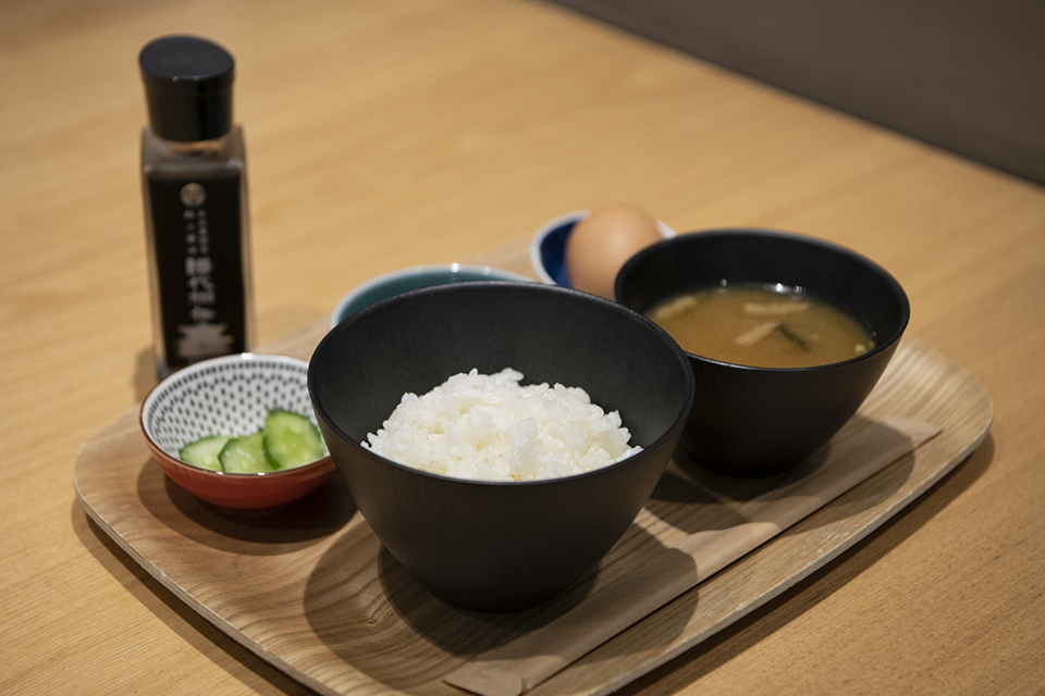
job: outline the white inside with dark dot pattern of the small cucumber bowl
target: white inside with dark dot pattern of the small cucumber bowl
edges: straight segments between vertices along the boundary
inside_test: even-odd
[[[283,356],[226,356],[197,363],[164,380],[146,399],[148,437],[177,459],[186,444],[207,435],[248,435],[270,409],[316,415],[308,398],[308,363]]]

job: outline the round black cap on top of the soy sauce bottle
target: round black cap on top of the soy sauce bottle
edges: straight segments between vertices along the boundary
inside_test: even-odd
[[[235,61],[193,36],[164,36],[138,55],[152,133],[169,140],[212,140],[232,129]]]

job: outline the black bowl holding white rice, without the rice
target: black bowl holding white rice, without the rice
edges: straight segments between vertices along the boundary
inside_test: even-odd
[[[364,448],[405,393],[513,368],[522,384],[581,387],[619,411],[641,452],[588,473],[481,482]],[[437,596],[480,611],[540,605],[595,568],[646,505],[693,399],[686,355],[641,314],[537,283],[479,282],[397,295],[353,314],[308,369],[337,471],[385,548]]]

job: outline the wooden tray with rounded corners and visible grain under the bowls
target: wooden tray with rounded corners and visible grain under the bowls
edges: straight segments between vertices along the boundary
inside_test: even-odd
[[[324,331],[309,326],[265,350],[308,358]],[[905,339],[861,414],[924,420],[942,427],[941,435],[528,693],[612,692],[729,625],[929,489],[980,445],[992,413],[991,397],[973,375]],[[673,463],[669,475],[686,473]],[[491,616],[439,601],[381,547],[337,477],[276,511],[202,504],[151,459],[137,410],[84,444],[74,484],[90,518],[152,576],[321,693],[460,696],[442,681],[445,674],[562,611],[560,602]],[[678,500],[657,495],[643,514],[655,515],[659,507],[678,520]]]

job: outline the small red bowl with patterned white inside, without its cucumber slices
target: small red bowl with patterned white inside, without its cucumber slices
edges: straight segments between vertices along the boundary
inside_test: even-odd
[[[238,353],[205,360],[163,380],[142,405],[139,425],[157,462],[197,498],[257,510],[312,493],[334,472],[330,457],[257,474],[209,471],[181,461],[179,450],[207,435],[248,435],[270,409],[316,415],[308,396],[308,363],[285,356]]]

